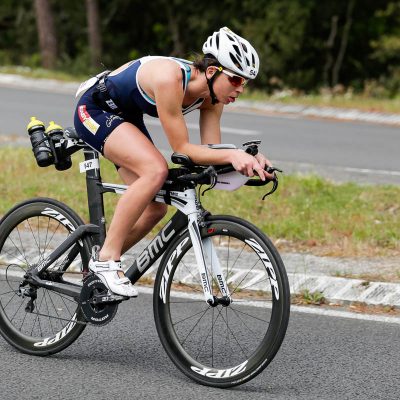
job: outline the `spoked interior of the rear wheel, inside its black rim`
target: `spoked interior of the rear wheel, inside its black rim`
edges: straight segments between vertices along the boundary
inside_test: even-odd
[[[75,301],[24,280],[29,268],[48,257],[69,234],[58,220],[44,215],[25,218],[6,232],[0,248],[0,313],[2,323],[13,331],[46,338],[56,335],[74,318]],[[76,280],[75,275],[61,271],[63,262],[61,257],[51,265],[45,279],[60,282],[73,276]],[[80,270],[80,265],[78,255],[68,272]]]

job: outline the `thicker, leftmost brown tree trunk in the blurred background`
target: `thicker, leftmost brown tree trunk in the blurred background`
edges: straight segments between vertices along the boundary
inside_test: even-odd
[[[54,68],[57,61],[57,37],[48,0],[35,0],[36,24],[43,68]]]

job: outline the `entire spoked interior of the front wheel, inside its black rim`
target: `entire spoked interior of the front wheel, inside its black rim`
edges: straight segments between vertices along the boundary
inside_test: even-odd
[[[186,353],[208,368],[226,369],[254,357],[266,340],[272,316],[268,271],[242,239],[215,235],[213,244],[230,291],[230,304],[205,302],[192,249],[173,273],[169,301],[176,340]],[[213,294],[222,295],[212,265]]]

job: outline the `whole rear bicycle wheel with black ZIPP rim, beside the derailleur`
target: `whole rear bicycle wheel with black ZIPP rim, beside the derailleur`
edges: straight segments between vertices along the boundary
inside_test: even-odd
[[[65,295],[36,288],[37,299],[29,306],[29,297],[17,294],[24,271],[43,260],[82,224],[73,210],[48,198],[17,204],[0,221],[0,334],[23,353],[57,353],[71,345],[86,327],[79,304]],[[66,271],[64,255],[46,273],[63,283],[80,284],[89,257],[90,239],[85,237]]]

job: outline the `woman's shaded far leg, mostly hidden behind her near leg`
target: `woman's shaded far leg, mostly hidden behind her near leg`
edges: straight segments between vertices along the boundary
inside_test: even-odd
[[[138,176],[126,168],[119,168],[118,173],[126,185],[131,185]],[[136,224],[131,228],[122,246],[122,254],[145,237],[167,213],[168,206],[163,203],[151,202],[143,211]]]

